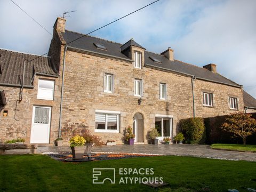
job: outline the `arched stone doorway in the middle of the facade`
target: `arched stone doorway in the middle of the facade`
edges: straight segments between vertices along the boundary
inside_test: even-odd
[[[134,142],[143,141],[143,116],[140,113],[136,113],[133,116],[133,134],[135,134]]]

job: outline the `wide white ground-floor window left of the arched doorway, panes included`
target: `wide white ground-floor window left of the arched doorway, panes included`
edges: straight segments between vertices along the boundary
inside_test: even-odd
[[[119,112],[100,111],[95,113],[95,132],[119,132]]]

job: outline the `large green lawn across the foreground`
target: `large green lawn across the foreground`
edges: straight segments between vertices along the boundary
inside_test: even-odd
[[[116,184],[92,183],[92,169],[116,168]],[[153,189],[141,184],[118,184],[118,169],[154,168],[169,187]],[[63,163],[44,155],[1,155],[0,191],[227,191],[255,187],[256,162],[196,157],[154,156]],[[109,174],[110,176],[110,174]],[[134,175],[130,175],[132,177]],[[125,177],[125,176],[123,176]],[[126,175],[127,177],[127,175]],[[149,177],[152,177],[150,175]]]

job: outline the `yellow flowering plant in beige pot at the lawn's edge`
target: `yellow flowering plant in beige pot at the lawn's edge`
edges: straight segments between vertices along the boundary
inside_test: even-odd
[[[73,159],[82,159],[86,146],[84,146],[85,139],[79,135],[69,140],[70,148],[72,150]]]

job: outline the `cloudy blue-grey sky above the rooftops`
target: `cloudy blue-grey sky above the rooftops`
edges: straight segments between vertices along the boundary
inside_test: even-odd
[[[57,17],[69,13],[66,29],[87,34],[154,0],[13,0],[52,33]],[[256,98],[256,1],[160,0],[92,36],[125,43],[133,38],[147,51],[171,47],[174,59],[217,72]],[[44,54],[52,36],[10,0],[0,0],[0,47]]]

